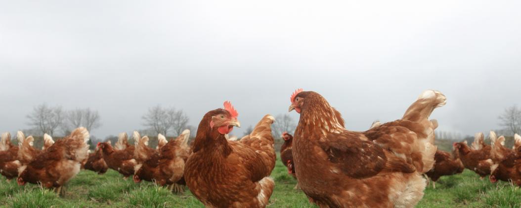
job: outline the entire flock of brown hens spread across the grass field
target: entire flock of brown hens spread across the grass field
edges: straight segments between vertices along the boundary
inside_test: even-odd
[[[464,167],[492,182],[510,180],[521,186],[521,137],[515,146],[503,146],[504,137],[491,133],[491,146],[477,134],[471,147],[454,143],[453,156],[434,145],[436,120],[432,111],[445,105],[445,96],[426,90],[405,111],[402,119],[375,122],[365,132],[344,128],[344,120],[327,100],[315,92],[296,90],[289,111],[300,113],[293,135],[284,132],[280,157],[310,202],[320,207],[413,207],[423,197],[427,180],[461,173]],[[41,184],[63,193],[63,185],[84,168],[99,174],[108,168],[124,178],[132,176],[182,191],[188,186],[207,207],[265,207],[275,187],[269,177],[276,153],[271,124],[265,115],[252,133],[230,139],[240,127],[239,113],[230,102],[207,112],[188,145],[190,131],[168,141],[158,135],[156,149],[148,137],[134,132],[135,145],[126,133],[114,146],[100,142],[89,153],[89,132],[75,129],[56,142],[45,135],[42,150],[33,147],[32,136],[18,132],[18,146],[9,133],[0,142],[0,173],[16,178],[19,185]]]

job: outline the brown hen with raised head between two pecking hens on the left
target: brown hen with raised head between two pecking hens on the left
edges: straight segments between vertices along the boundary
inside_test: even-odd
[[[126,137],[119,138],[126,139]],[[117,150],[108,142],[100,142],[96,147],[101,149],[103,160],[107,166],[123,175],[123,179],[127,179],[129,176],[134,174],[134,166],[137,164],[134,159],[134,146]]]

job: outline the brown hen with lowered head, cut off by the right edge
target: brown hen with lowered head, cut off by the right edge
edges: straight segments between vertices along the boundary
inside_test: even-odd
[[[515,151],[519,147],[517,143],[521,138],[519,138],[519,135],[516,135],[514,135],[516,144],[513,146],[514,150],[511,150],[504,147],[505,137],[501,136],[498,138],[494,132],[490,132],[492,146],[490,157],[494,164],[490,167],[489,179],[492,183],[503,180],[512,181],[513,184],[521,186],[521,157],[519,157],[521,155]]]

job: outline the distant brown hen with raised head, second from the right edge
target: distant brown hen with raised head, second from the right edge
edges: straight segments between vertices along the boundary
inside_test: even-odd
[[[482,134],[476,134],[476,138]],[[481,178],[490,174],[490,166],[492,159],[490,159],[491,146],[484,146],[481,149],[474,150],[467,146],[466,142],[454,142],[452,145],[454,156],[460,158],[461,162],[468,170],[474,171]]]

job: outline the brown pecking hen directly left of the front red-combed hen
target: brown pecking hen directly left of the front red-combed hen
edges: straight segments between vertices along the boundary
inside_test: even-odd
[[[144,163],[136,165],[134,181],[139,183],[142,175],[150,174],[151,178],[146,178],[146,180],[153,179],[160,186],[172,185],[170,187],[173,189],[173,185],[178,183],[183,177],[184,164],[190,155],[189,136],[190,130],[188,129],[184,130],[175,140],[170,140],[169,142],[166,141],[163,135],[159,135],[158,158],[152,157]],[[182,190],[176,186],[176,191]]]

